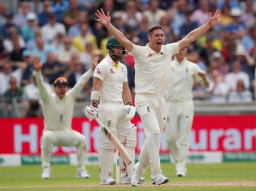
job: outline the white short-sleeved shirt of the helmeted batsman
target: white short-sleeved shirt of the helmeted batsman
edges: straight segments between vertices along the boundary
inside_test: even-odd
[[[100,102],[123,101],[122,91],[123,83],[127,82],[127,68],[121,62],[115,67],[110,56],[106,56],[94,70],[93,77],[102,80],[100,88]]]

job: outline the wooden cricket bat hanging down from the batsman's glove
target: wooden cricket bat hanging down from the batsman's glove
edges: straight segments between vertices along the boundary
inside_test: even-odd
[[[109,140],[113,143],[115,148],[118,150],[120,156],[122,156],[125,163],[129,165],[131,163],[131,156],[127,152],[126,148],[122,145],[122,143],[118,140],[117,137],[110,131],[102,122],[99,120],[98,117],[94,117],[94,120],[97,121],[98,125],[100,125],[101,130],[103,133],[109,138]]]

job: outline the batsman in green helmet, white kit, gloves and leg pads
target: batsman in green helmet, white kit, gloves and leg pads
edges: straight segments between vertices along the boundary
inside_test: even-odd
[[[122,167],[121,184],[130,184],[137,145],[137,128],[133,127],[130,122],[135,115],[136,108],[132,104],[127,82],[127,68],[119,62],[123,61],[126,50],[114,37],[110,37],[106,48],[108,55],[98,64],[93,74],[92,104],[87,107],[85,116],[92,121],[98,113],[102,124],[117,135],[119,141],[129,152],[133,162],[127,165],[122,158],[120,158],[120,162]],[[100,100],[99,105],[98,100]],[[101,185],[110,185],[116,182],[113,179],[113,157],[114,145],[100,130],[98,160]]]

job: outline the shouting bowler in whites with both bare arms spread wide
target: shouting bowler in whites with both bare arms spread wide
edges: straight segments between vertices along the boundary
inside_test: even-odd
[[[138,46],[128,40],[121,31],[110,23],[110,13],[103,9],[96,11],[96,20],[103,24],[108,31],[135,58],[135,106],[143,122],[146,139],[142,146],[139,162],[135,164],[135,172],[131,177],[131,185],[139,186],[141,177],[148,165],[151,165],[152,184],[164,184],[168,178],[162,174],[160,168],[159,148],[161,133],[166,121],[167,104],[164,92],[168,89],[171,78],[171,57],[179,50],[188,46],[216,26],[221,13],[216,11],[214,16],[209,12],[209,22],[189,32],[177,43],[164,44],[163,28],[154,25],[148,28],[146,46]]]

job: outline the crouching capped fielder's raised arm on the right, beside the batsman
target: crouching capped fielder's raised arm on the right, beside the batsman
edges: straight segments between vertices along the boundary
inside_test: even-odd
[[[74,100],[77,96],[79,96],[80,92],[82,91],[82,88],[84,88],[85,83],[88,82],[90,77],[92,77],[95,67],[98,65],[99,59],[99,55],[93,54],[92,67],[89,70],[87,70],[86,73],[81,75],[75,86],[68,92],[68,94],[71,94]]]

